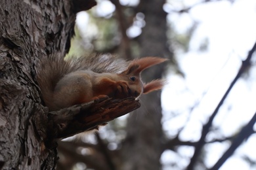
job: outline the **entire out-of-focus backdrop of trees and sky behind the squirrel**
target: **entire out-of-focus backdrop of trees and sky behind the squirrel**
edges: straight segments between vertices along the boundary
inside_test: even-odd
[[[169,61],[161,92],[98,133],[60,141],[57,169],[256,169],[256,1],[98,0],[77,14],[70,55]]]

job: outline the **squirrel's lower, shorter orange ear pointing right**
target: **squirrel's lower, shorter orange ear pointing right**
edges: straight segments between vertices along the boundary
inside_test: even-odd
[[[166,80],[152,80],[152,82],[143,85],[143,93],[146,94],[155,90],[160,90],[163,88],[163,86],[165,86],[165,84],[167,84]]]

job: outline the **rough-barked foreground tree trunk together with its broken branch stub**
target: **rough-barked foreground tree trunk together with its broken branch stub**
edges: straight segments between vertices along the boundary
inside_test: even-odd
[[[55,52],[64,56],[74,35],[75,14],[95,4],[94,0],[1,1],[0,169],[54,169],[56,139],[95,128],[139,107],[134,99],[108,99],[52,113],[42,105],[35,80],[38,58]],[[93,112],[97,120],[86,116]],[[79,118],[87,118],[88,126]],[[72,124],[74,128],[67,130]]]

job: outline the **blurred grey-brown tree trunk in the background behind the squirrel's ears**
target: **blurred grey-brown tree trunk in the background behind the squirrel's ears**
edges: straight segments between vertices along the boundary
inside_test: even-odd
[[[139,37],[140,56],[160,56],[171,59],[167,48],[166,13],[163,11],[164,0],[140,1],[139,11],[145,15],[146,27]],[[167,56],[168,55],[168,56]],[[161,78],[163,65],[144,71],[144,82]],[[142,95],[142,107],[135,110],[127,124],[127,139],[125,140],[123,156],[124,169],[161,169],[161,143],[163,132],[161,128],[161,92]]]

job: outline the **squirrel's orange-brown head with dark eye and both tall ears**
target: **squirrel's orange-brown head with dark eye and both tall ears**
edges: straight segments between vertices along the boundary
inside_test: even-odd
[[[153,65],[166,61],[165,58],[146,57],[140,59],[134,59],[129,63],[129,66],[120,75],[125,77],[129,84],[132,97],[139,97],[142,93],[150,93],[154,90],[160,90],[164,84],[164,80],[153,80],[147,84],[144,84],[140,78],[140,73]]]

